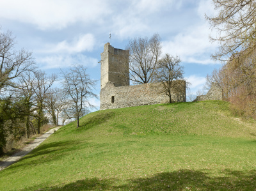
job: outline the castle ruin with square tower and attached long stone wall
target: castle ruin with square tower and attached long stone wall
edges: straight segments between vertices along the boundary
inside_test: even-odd
[[[186,81],[181,91],[172,91],[173,102],[186,102]],[[101,54],[100,66],[100,110],[169,103],[163,84],[150,83],[130,86],[129,52],[115,49],[106,43]]]

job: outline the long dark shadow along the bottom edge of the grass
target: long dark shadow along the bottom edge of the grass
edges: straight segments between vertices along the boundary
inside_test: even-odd
[[[255,190],[256,171],[224,170],[223,176],[212,177],[201,171],[180,170],[155,174],[150,178],[129,180],[127,184],[115,185],[118,180],[99,178],[79,180],[63,187],[40,190]]]

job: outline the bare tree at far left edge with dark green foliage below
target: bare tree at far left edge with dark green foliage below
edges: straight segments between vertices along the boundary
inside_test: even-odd
[[[23,103],[27,103],[26,100],[15,100],[12,97],[13,88],[19,87],[17,77],[33,68],[35,66],[32,53],[25,49],[15,50],[15,37],[10,31],[2,32],[0,27],[0,153],[3,152],[8,129],[12,134],[15,121],[18,118],[24,119],[22,116],[25,114],[24,106],[26,104]],[[8,91],[6,91],[7,88]],[[10,128],[6,128],[6,126],[10,126]]]

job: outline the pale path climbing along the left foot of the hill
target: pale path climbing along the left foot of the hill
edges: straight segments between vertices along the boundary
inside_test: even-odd
[[[17,162],[17,160],[20,160],[20,158],[24,157],[25,155],[28,155],[28,153],[30,153],[33,149],[35,149],[38,145],[40,145],[43,141],[45,141],[45,139],[47,139],[51,134],[53,134],[59,128],[60,126],[56,128],[52,128],[42,136],[36,137],[36,139],[33,142],[29,143],[28,146],[26,146],[21,151],[19,151],[19,153],[15,153],[12,157],[8,157],[2,162],[0,162],[0,171],[5,169],[9,165]]]

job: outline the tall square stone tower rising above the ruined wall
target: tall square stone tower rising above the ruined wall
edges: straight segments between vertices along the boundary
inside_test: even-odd
[[[106,43],[101,53],[100,89],[107,82],[117,86],[129,86],[129,51],[115,49]]]

